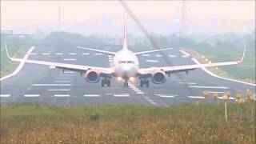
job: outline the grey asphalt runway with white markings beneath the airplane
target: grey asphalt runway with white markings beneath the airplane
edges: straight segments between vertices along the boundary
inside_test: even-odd
[[[121,48],[122,46],[120,46]],[[117,51],[114,47],[105,50]],[[145,49],[131,49],[142,51]],[[28,59],[50,62],[65,62],[86,66],[113,66],[113,58],[107,54],[88,50],[78,50],[76,46],[35,46],[27,54]],[[140,67],[173,66],[195,64],[196,60],[186,51],[173,49],[163,53],[142,54],[138,56]],[[229,61],[227,59],[226,61]],[[232,61],[232,60],[230,60]],[[185,102],[214,102],[214,98],[205,98],[203,91],[218,93],[219,97],[229,90],[230,101],[234,102],[237,90],[255,90],[255,85],[217,78],[207,70],[192,70],[186,73],[171,74],[165,84],[139,87],[138,80],[123,87],[116,78],[111,79],[111,87],[101,87],[100,82],[88,83],[76,72],[53,69],[49,66],[25,64],[17,74],[1,81],[1,103],[35,102],[50,105],[86,105],[86,104],[146,104],[168,106]],[[221,98],[220,98],[221,100]]]

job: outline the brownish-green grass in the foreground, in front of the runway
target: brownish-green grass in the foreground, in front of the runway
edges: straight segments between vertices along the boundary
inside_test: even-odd
[[[222,103],[222,102],[221,102]],[[255,143],[250,105],[1,106],[1,143]]]

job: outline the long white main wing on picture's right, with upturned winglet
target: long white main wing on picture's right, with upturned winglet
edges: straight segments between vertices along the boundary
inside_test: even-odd
[[[177,73],[177,72],[182,72],[182,71],[186,71],[186,73],[187,73],[189,70],[195,70],[195,69],[202,68],[202,67],[237,65],[243,61],[245,52],[246,52],[246,47],[243,51],[242,58],[240,60],[234,61],[234,62],[216,62],[216,63],[194,64],[194,65],[185,65],[185,66],[150,67],[150,68],[146,68],[146,69],[139,69],[138,71],[139,71],[139,74],[141,75],[141,77],[143,77],[143,76],[150,77],[152,72],[154,72],[155,70],[163,70],[164,72],[166,72],[166,74],[171,74],[171,73]]]

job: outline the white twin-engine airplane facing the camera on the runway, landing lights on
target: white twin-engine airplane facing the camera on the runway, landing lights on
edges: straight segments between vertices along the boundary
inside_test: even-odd
[[[194,65],[185,65],[185,66],[163,66],[163,67],[150,67],[150,68],[139,68],[138,55],[140,54],[149,54],[163,50],[171,50],[173,48],[166,48],[160,50],[148,50],[142,52],[133,52],[128,49],[127,46],[127,38],[126,38],[126,9],[124,10],[124,42],[122,46],[122,50],[118,52],[106,51],[106,50],[95,50],[91,48],[86,48],[82,46],[77,46],[78,49],[82,50],[91,50],[94,52],[100,52],[103,54],[110,54],[114,56],[114,66],[105,68],[98,66],[83,66],[83,65],[75,65],[75,64],[67,64],[67,63],[58,63],[58,62],[46,62],[46,61],[38,61],[38,60],[30,60],[30,59],[22,59],[22,58],[11,58],[7,46],[6,47],[6,55],[10,58],[11,61],[14,62],[25,62],[25,63],[33,63],[38,65],[50,66],[57,69],[71,70],[75,72],[80,72],[84,75],[86,82],[96,83],[102,79],[102,87],[108,86],[110,87],[110,79],[112,77],[118,78],[118,80],[123,80],[124,87],[128,87],[129,81],[134,81],[134,78],[140,79],[140,86],[150,86],[150,80],[154,84],[162,84],[166,82],[167,75],[170,77],[170,74],[186,72],[195,70],[202,67],[212,67],[212,66],[230,66],[237,65],[243,61],[246,46],[243,50],[242,58],[238,61],[233,62],[216,62],[216,63],[206,63],[206,64],[194,64]]]

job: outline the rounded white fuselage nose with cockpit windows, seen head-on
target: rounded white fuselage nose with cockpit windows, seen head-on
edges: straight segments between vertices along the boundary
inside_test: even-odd
[[[138,74],[138,58],[134,52],[122,49],[114,55],[114,75],[121,78],[136,77]]]

